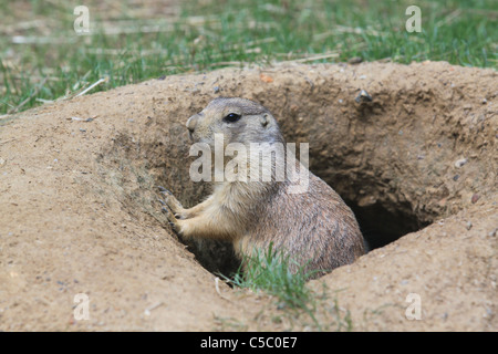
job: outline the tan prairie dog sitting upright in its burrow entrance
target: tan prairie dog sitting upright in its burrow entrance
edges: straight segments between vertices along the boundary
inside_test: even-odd
[[[269,143],[267,147],[286,143],[267,108],[238,97],[215,98],[188,118],[187,129],[193,142],[207,144],[212,154],[216,136],[222,136],[225,148],[236,143],[249,152],[251,143]],[[260,162],[271,166],[269,180],[215,181],[212,194],[190,209],[165,192],[163,209],[174,229],[184,238],[229,240],[239,257],[250,256],[255,249],[264,251],[272,242],[273,250],[304,266],[307,272],[328,272],[363,254],[363,236],[341,197],[299,163],[294,165],[299,173],[307,173],[308,186],[302,192],[292,191],[298,181],[287,175],[277,178],[282,162],[290,160],[289,154],[274,149],[270,156],[274,158]],[[250,159],[243,154],[224,157],[221,168],[237,159],[235,170],[249,176]],[[291,266],[292,272],[297,269]]]

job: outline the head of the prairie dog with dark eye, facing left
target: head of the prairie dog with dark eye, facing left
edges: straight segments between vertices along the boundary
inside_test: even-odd
[[[277,121],[259,103],[238,97],[218,97],[187,121],[195,143],[215,144],[215,134],[224,135],[224,145],[240,143],[283,143]]]

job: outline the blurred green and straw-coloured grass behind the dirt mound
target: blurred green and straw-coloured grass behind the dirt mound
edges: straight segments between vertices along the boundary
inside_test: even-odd
[[[81,3],[91,35],[73,29]],[[411,4],[419,33],[405,30]],[[248,63],[361,56],[497,67],[496,0],[0,0],[0,114],[95,83],[89,92]]]

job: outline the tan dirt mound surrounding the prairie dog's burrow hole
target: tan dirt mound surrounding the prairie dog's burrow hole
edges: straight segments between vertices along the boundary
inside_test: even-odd
[[[186,206],[207,192],[188,176],[185,122],[224,95],[310,143],[310,169],[374,249],[311,282],[329,294],[324,329],[340,314],[353,330],[497,331],[497,79],[443,62],[227,69],[3,118],[0,330],[288,327],[261,315],[281,312],[268,298],[215,281],[235,267],[228,247],[162,227],[157,185]]]

